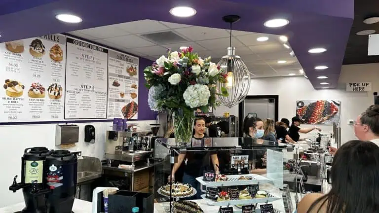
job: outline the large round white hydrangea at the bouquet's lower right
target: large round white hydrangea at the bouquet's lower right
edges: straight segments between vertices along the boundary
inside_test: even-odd
[[[190,85],[183,93],[183,98],[187,106],[197,108],[208,105],[208,99],[211,96],[208,86],[202,84]]]

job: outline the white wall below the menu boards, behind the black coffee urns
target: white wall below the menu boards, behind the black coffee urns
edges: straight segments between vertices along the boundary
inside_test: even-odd
[[[149,124],[155,121],[133,121],[138,123],[141,130],[150,130]],[[84,142],[84,126],[91,124],[95,127],[96,142]],[[103,159],[103,149],[106,141],[106,131],[112,122],[79,123],[79,142],[70,151],[82,151],[82,155]],[[1,138],[1,176],[0,176],[0,208],[23,202],[21,190],[13,193],[8,190],[13,177],[21,176],[21,156],[24,149],[33,146],[46,146],[49,149],[61,149],[55,146],[55,124],[44,125],[10,125],[0,126]]]

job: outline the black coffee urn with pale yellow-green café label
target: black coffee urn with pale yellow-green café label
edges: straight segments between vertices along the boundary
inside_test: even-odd
[[[17,183],[16,178],[9,186],[9,190],[16,192],[22,189],[25,201],[25,208],[21,213],[46,213],[45,196],[49,189],[46,189],[43,178],[44,161],[51,152],[46,147],[26,148],[21,157],[21,182]]]

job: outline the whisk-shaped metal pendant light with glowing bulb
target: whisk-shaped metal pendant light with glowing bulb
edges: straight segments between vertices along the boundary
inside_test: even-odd
[[[239,19],[238,15],[223,17],[223,20],[230,24],[230,45],[227,48],[227,55],[217,63],[221,67],[221,73],[227,75],[227,82],[219,82],[217,88],[221,91],[221,88],[225,87],[229,93],[229,96],[220,96],[219,99],[223,105],[229,108],[242,102],[250,88],[250,72],[241,57],[235,55],[235,48],[231,46],[231,25]]]

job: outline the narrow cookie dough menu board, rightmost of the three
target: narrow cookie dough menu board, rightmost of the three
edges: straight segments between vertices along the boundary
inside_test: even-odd
[[[109,50],[108,118],[138,118],[137,57]]]

